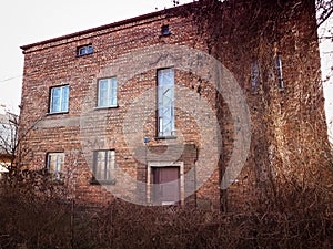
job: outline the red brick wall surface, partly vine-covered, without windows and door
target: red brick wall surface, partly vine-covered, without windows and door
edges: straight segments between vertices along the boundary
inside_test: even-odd
[[[117,166],[129,174],[132,179],[144,183],[147,172],[143,159],[149,159],[142,158],[144,136],[150,138],[148,147],[153,152],[153,155],[163,152],[167,145],[170,147],[184,145],[176,160],[184,162],[185,172],[188,172],[194,167],[201,155],[219,157],[219,155],[210,155],[214,149],[211,152],[209,152],[210,149],[202,149],[204,143],[210,143],[210,141],[202,141],[209,139],[202,134],[211,132],[214,133],[212,137],[216,137],[221,128],[222,139],[221,145],[218,145],[221,152],[219,164],[213,165],[212,176],[198,190],[196,196],[189,197],[189,203],[192,204],[196,198],[196,200],[199,199],[196,205],[200,207],[220,208],[222,203],[222,208],[234,210],[236,207],[249,208],[258,201],[258,197],[266,197],[269,193],[268,177],[273,174],[272,172],[280,170],[283,168],[282,166],[286,165],[283,152],[292,153],[296,145],[293,139],[292,126],[297,124],[305,127],[306,122],[314,122],[325,131],[322,115],[322,92],[316,89],[319,77],[317,43],[316,37],[310,35],[310,31],[314,28],[313,9],[306,8],[309,7],[306,6],[307,2],[304,1],[301,4],[304,11],[299,11],[300,17],[294,18],[291,15],[290,9],[286,8],[284,10],[287,11],[282,11],[275,8],[275,3],[266,3],[270,8],[275,8],[279,12],[276,12],[276,17],[280,17],[278,25],[274,27],[278,28],[279,31],[274,30],[274,32],[278,32],[279,35],[273,35],[272,27],[264,30],[265,32],[262,34],[259,33],[269,11],[262,12],[263,21],[256,23],[259,27],[250,25],[249,29],[246,28],[248,24],[256,21],[252,20],[253,15],[251,14],[255,3],[234,1],[234,6],[225,3],[222,7],[220,3],[214,3],[216,4],[213,6],[214,11],[200,4],[202,2],[26,46],[20,131],[24,133],[29,127],[33,126],[33,128],[24,137],[21,146],[23,165],[29,168],[42,168],[46,166],[48,152],[64,152],[71,194],[74,194],[75,198],[82,203],[105,203],[111,199],[111,194],[101,186],[90,183],[92,173],[89,165],[92,163],[93,149],[115,149]],[[290,6],[286,4],[286,7]],[[281,17],[287,18],[281,19]],[[168,37],[161,37],[161,27],[164,24],[170,27],[171,34]],[[93,53],[77,56],[77,48],[84,44],[92,44]],[[219,95],[215,86],[206,79],[202,80],[201,75],[195,75],[195,72],[175,69],[175,85],[186,89],[192,94],[191,96],[204,100],[210,104],[211,110],[203,111],[201,115],[211,118],[209,116],[213,112],[218,116],[219,131],[212,132],[212,127],[200,126],[195,120],[195,108],[191,108],[191,112],[183,108],[183,106],[189,105],[188,96],[176,96],[175,126],[181,136],[171,141],[154,138],[157,122],[155,112],[152,112],[151,105],[155,105],[155,100],[150,98],[149,95],[143,95],[143,93],[155,87],[157,69],[172,66],[178,61],[200,62],[200,59],[195,58],[194,60],[189,54],[186,54],[188,61],[181,56],[173,56],[172,51],[162,53],[155,51],[159,56],[153,53],[155,49],[158,50],[163,45],[176,45],[178,48],[185,45],[210,53],[230,70],[243,89],[252,124],[251,147],[238,181],[226,190],[220,189],[220,183],[223,172],[229,166],[238,131],[234,131],[230,110],[226,102],[223,101],[225,96]],[[272,65],[276,48],[282,54],[284,63],[283,74],[286,85],[284,91],[280,91],[278,87],[274,76],[276,72]],[[138,50],[141,52],[138,53]],[[147,51],[144,52],[144,50]],[[150,58],[147,58],[147,54],[150,54]],[[193,54],[195,53],[193,52]],[[311,54],[311,60],[302,62],[302,64],[293,63],[295,56],[301,60],[305,54]],[[258,89],[253,90],[250,74],[251,63],[255,58],[262,66],[262,79]],[[149,64],[150,59],[153,60]],[[148,68],[142,68],[142,65],[148,65]],[[186,68],[186,65],[183,66]],[[193,64],[188,68],[193,69]],[[297,72],[301,69],[309,70],[309,74],[300,76]],[[129,76],[130,73],[133,75]],[[205,73],[209,74],[210,72]],[[94,110],[97,105],[97,80],[114,75],[119,77],[119,106]],[[123,76],[129,76],[129,79],[121,79]],[[290,101],[290,105],[294,103],[297,108],[305,105],[307,106],[305,110],[312,110],[314,102],[295,101],[296,91],[294,91],[294,86],[303,87],[305,86],[303,83],[305,85],[306,83],[312,84],[310,94],[315,100],[317,111],[314,118],[310,111],[300,117],[289,116],[289,111],[283,110],[283,105],[287,101]],[[70,85],[69,113],[49,115],[50,87],[61,84]],[[132,111],[130,106],[138,98],[142,103],[138,103],[135,105],[138,108]],[[140,144],[137,148],[133,148],[131,144],[129,145],[123,135],[123,127],[133,125],[129,123],[127,116],[129,112],[138,118],[140,116],[145,117],[144,126],[131,132]],[[301,110],[300,113],[302,113]],[[279,126],[283,122],[279,123],[278,121],[283,121],[287,125]],[[314,137],[310,132],[306,134],[309,137]],[[302,143],[306,146],[304,139]],[[138,152],[139,154],[135,154]],[[272,153],[274,154],[274,164],[270,157]],[[152,156],[151,159],[168,160],[164,156],[160,158]],[[205,166],[199,165],[199,167]],[[297,165],[295,164],[294,167],[297,168]],[[203,172],[210,170],[204,168]],[[125,186],[125,194],[123,195],[128,196],[129,199],[138,190],[138,186],[127,181],[118,181],[113,190],[117,191],[118,187],[121,188],[118,190],[123,190],[122,186]],[[141,191],[141,189],[139,190]]]

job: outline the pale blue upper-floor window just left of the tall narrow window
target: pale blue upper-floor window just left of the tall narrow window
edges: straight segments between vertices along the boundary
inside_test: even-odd
[[[117,77],[99,80],[98,107],[117,106]]]

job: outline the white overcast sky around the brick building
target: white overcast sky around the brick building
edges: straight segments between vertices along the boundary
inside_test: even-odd
[[[180,0],[180,3],[193,0]],[[10,0],[0,9],[0,104],[18,112],[21,97],[23,55],[19,46],[114,21],[171,8],[173,0]],[[327,29],[332,28],[326,25]],[[332,41],[326,41],[322,55],[323,70],[333,66]],[[331,53],[330,53],[331,52]],[[325,83],[329,120],[333,113],[333,84]]]

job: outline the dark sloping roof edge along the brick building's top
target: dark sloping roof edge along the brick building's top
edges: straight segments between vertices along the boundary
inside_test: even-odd
[[[195,2],[191,2],[191,3],[188,3],[188,4],[180,6],[180,7],[173,7],[173,8],[170,8],[170,9],[164,9],[164,10],[151,12],[151,13],[148,13],[148,14],[142,14],[142,15],[139,15],[139,17],[135,17],[135,18],[125,19],[125,20],[113,22],[113,23],[110,23],[110,24],[100,25],[100,27],[97,27],[97,28],[79,31],[79,32],[75,32],[75,33],[65,34],[65,35],[62,35],[62,37],[44,40],[44,41],[41,41],[41,42],[36,42],[36,43],[31,43],[31,44],[28,44],[28,45],[22,45],[22,46],[20,46],[20,49],[24,51],[24,50],[31,49],[33,46],[37,46],[37,45],[43,45],[43,44],[48,44],[48,43],[51,43],[51,42],[61,41],[61,40],[64,40],[64,39],[71,39],[71,38],[74,38],[74,37],[83,35],[83,34],[88,34],[88,33],[92,33],[92,32],[97,32],[97,31],[101,31],[101,30],[105,30],[105,29],[110,29],[110,28],[115,28],[115,27],[129,24],[129,23],[132,23],[132,22],[142,21],[142,20],[145,20],[145,19],[149,19],[149,18],[153,18],[153,17],[164,14],[164,13],[170,13],[174,9],[185,8],[185,7],[188,7],[190,4],[194,4],[194,3]]]

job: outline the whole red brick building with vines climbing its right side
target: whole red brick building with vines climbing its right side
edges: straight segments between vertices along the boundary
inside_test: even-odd
[[[299,151],[326,131],[314,1],[198,1],[21,49],[22,166],[78,201],[249,208],[321,159]]]

